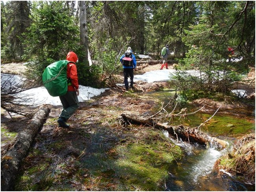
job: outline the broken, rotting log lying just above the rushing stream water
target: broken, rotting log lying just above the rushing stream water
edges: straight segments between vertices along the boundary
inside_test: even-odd
[[[169,132],[174,138],[181,138],[183,141],[187,142],[195,142],[202,145],[212,145],[216,146],[219,149],[223,149],[226,147],[227,143],[224,140],[220,140],[218,138],[210,137],[206,133],[203,133],[200,130],[195,128],[187,127],[187,126],[169,126],[165,124],[161,124],[152,119],[143,118],[141,116],[134,116],[130,114],[121,114],[123,120],[125,122],[135,123],[135,124],[143,124],[152,126],[158,129],[164,129]]]

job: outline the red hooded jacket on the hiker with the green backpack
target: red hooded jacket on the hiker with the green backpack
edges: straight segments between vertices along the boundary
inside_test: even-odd
[[[68,83],[68,91],[75,91],[79,89],[78,84],[78,76],[76,69],[76,61],[78,60],[77,55],[74,52],[69,52],[67,54],[67,61],[69,61],[67,65],[67,78],[71,80],[72,85]]]

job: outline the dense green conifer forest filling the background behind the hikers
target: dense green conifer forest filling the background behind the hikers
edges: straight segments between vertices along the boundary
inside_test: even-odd
[[[79,83],[102,87],[122,71],[127,46],[160,59],[165,44],[179,64],[173,85],[184,96],[228,94],[255,65],[255,2],[1,1],[1,63],[28,61],[31,87],[42,85],[45,67],[70,50],[79,55]],[[228,47],[243,60],[226,62]],[[189,69],[206,75],[184,76]]]

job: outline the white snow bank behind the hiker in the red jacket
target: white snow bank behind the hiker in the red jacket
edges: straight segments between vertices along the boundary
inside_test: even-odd
[[[85,87],[83,85],[79,86],[79,102],[84,102],[90,100],[91,97],[98,96],[108,89],[95,89],[92,87]],[[16,102],[20,102],[19,98],[22,98],[22,104],[24,105],[41,105],[41,104],[51,104],[51,105],[61,105],[59,97],[52,97],[47,92],[45,87],[38,87],[29,90],[25,90],[16,94],[18,99]]]

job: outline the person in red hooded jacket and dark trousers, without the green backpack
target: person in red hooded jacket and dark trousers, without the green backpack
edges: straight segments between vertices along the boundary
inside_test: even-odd
[[[59,115],[58,123],[59,127],[64,128],[69,128],[69,125],[67,125],[66,122],[79,107],[79,85],[76,69],[78,57],[74,52],[69,52],[67,54],[67,61],[69,61],[67,64],[68,91],[65,95],[59,96],[63,109]]]

